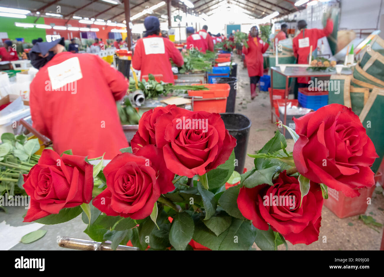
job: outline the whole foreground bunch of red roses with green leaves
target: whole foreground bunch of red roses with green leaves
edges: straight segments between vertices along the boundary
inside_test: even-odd
[[[277,131],[249,155],[255,167],[240,175],[236,140],[220,114],[157,107],[142,115],[131,147],[104,168],[103,160],[93,166],[86,157],[44,150],[24,175],[31,196],[24,221],[58,224],[82,214],[84,232],[114,249],[311,244],[327,186],[358,196],[358,189],[374,185],[377,154],[348,107],[331,104],[295,124],[297,133],[284,126],[295,140],[293,152]]]

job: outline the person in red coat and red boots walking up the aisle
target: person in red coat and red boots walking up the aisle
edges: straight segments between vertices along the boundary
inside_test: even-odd
[[[244,43],[245,40],[243,40]],[[269,44],[259,38],[257,26],[253,26],[248,35],[248,48],[243,46],[243,53],[247,63],[248,76],[250,78],[251,99],[258,96],[256,92],[257,84],[264,73],[263,53],[268,49]]]

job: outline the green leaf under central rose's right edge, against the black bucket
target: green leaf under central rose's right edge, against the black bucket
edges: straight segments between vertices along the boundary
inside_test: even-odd
[[[230,157],[225,163],[219,165],[216,169],[212,169],[207,172],[209,189],[214,190],[224,185],[232,175],[233,170],[235,170],[234,150],[232,151]]]

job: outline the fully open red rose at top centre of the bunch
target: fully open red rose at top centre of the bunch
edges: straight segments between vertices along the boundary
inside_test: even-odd
[[[236,146],[220,114],[204,111],[171,109],[157,119],[155,135],[167,168],[189,178],[225,163]]]

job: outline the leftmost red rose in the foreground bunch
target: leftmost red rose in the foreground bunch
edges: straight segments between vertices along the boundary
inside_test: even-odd
[[[31,222],[63,208],[73,208],[92,200],[93,165],[85,158],[45,149],[37,165],[24,174],[24,189],[31,196],[23,222]]]

